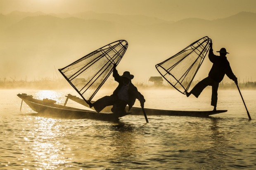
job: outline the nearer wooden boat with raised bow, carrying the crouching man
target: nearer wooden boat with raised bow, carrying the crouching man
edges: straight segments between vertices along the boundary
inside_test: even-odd
[[[38,100],[33,98],[32,95],[18,94],[19,98],[22,99],[33,111],[38,112],[42,116],[53,116],[68,119],[97,119],[102,121],[118,121],[120,117],[130,114],[114,114],[101,112],[97,113],[95,111],[90,111],[86,109],[78,109],[73,107],[67,107],[56,104],[55,100],[43,99]],[[22,105],[21,102],[21,105]]]

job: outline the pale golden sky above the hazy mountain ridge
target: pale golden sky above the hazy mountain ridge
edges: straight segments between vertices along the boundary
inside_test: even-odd
[[[0,13],[15,10],[143,14],[177,21],[189,17],[218,19],[241,11],[256,12],[256,0],[0,0]]]

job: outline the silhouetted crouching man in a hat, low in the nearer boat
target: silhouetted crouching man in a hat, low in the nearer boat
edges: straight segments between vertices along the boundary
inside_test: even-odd
[[[113,77],[115,81],[119,83],[113,94],[98,99],[90,104],[90,107],[94,107],[96,112],[99,113],[105,107],[113,105],[111,109],[113,113],[124,114],[126,113],[126,105],[128,104],[128,110],[130,110],[130,108],[133,107],[136,98],[140,101],[141,107],[144,107],[144,102],[146,100],[132,84],[131,79],[133,79],[134,76],[131,75],[130,72],[123,72],[123,75],[120,76],[116,70],[116,64],[114,64]]]

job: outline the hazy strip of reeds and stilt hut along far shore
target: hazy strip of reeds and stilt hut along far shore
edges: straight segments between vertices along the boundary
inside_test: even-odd
[[[190,88],[197,84],[197,81],[193,81]],[[159,88],[159,89],[174,89],[168,82],[164,81],[160,85],[155,85],[154,82],[133,82],[137,88]],[[113,88],[118,84],[113,79],[108,79],[102,88]],[[238,82],[238,86],[241,89],[256,90],[256,82]],[[71,85],[65,79],[50,79],[42,78],[40,80],[14,80],[14,79],[0,79],[0,89],[36,89],[36,90],[57,90],[72,88]],[[236,89],[237,86],[234,82],[220,82],[219,89]]]

